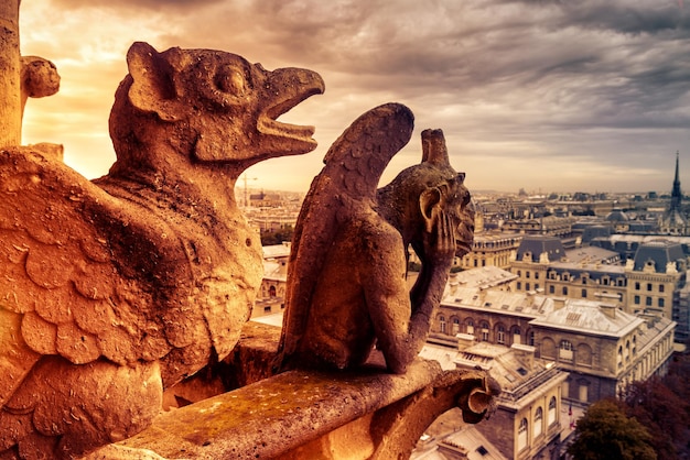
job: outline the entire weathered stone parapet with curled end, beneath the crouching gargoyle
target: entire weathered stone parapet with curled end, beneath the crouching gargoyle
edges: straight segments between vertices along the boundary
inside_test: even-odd
[[[212,374],[244,386],[165,412],[144,431],[88,459],[112,458],[114,449],[120,458],[128,449],[136,449],[131,458],[148,450],[165,459],[408,458],[439,415],[460,406],[465,421],[477,423],[496,393],[484,371],[442,371],[421,359],[405,374],[373,362],[357,372],[267,376],[279,333],[249,322],[230,359],[171,392],[184,399],[179,395],[198,392]]]

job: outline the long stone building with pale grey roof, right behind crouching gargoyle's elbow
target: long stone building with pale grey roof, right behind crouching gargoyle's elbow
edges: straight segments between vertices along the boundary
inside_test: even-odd
[[[432,343],[452,346],[465,333],[477,342],[533,347],[537,358],[569,372],[563,398],[583,406],[616,396],[632,381],[665,374],[676,326],[605,302],[460,283],[446,289],[432,322]]]

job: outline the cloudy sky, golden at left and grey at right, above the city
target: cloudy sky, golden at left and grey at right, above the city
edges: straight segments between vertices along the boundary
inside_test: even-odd
[[[678,151],[690,190],[690,0],[23,0],[20,28],[62,76],[28,102],[23,142],[64,144],[89,178],[115,158],[112,96],[145,41],[322,75],[281,118],[319,147],[254,166],[250,187],[305,191],[354,119],[397,101],[417,128],[385,182],[441,128],[471,189],[668,191]]]

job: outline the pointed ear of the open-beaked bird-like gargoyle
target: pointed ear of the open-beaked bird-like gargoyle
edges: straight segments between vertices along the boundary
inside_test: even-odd
[[[148,43],[134,42],[127,52],[127,67],[133,79],[129,88],[132,106],[158,113],[161,120],[176,120],[180,110],[171,63]]]

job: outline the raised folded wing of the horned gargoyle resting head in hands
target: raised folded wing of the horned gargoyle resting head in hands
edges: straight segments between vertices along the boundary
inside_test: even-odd
[[[375,212],[381,174],[409,142],[413,127],[410,109],[386,103],[360,116],[328,149],[325,166],[312,182],[295,226],[279,360],[289,358],[298,348],[314,286],[338,226],[355,212]]]

